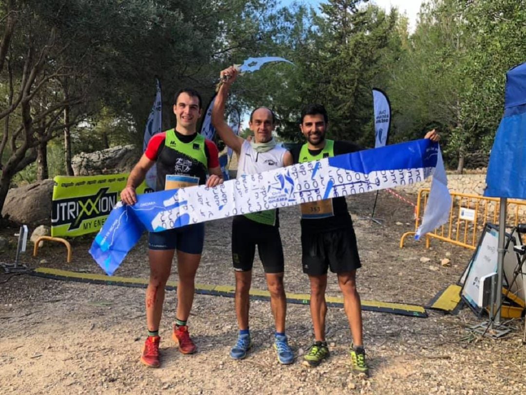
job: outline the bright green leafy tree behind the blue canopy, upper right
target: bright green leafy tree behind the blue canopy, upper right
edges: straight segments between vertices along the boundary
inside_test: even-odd
[[[503,112],[505,72],[525,60],[526,2],[432,0],[402,38],[389,82],[395,140],[442,129],[446,159],[488,151]]]

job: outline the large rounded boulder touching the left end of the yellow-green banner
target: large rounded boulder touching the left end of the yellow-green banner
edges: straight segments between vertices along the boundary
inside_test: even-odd
[[[51,225],[53,184],[53,180],[44,180],[10,189],[2,216],[19,224]]]

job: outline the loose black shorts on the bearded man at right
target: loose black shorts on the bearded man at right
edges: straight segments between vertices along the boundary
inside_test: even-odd
[[[352,225],[320,233],[301,233],[303,272],[309,275],[345,273],[360,268],[360,257]]]

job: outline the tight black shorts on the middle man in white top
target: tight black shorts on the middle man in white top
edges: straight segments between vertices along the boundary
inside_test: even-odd
[[[278,226],[261,224],[242,215],[232,221],[232,262],[234,270],[252,270],[258,246],[265,273],[282,273],[285,268]]]

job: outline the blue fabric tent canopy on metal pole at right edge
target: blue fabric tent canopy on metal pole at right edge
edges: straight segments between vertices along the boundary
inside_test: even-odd
[[[484,196],[526,199],[526,63],[506,74],[504,108],[491,149]]]

